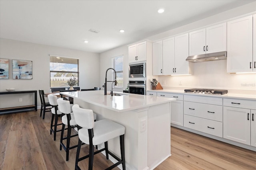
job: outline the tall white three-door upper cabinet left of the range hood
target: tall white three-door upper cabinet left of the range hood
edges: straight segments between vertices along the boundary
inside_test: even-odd
[[[184,75],[189,71],[188,33],[153,43],[153,75]]]

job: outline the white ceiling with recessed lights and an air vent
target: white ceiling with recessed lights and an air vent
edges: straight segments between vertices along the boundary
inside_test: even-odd
[[[250,2],[255,0],[0,0],[0,37],[102,53]]]

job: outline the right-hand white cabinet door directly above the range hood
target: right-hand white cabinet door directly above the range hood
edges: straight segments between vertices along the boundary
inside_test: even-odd
[[[206,28],[206,53],[227,51],[227,23]]]

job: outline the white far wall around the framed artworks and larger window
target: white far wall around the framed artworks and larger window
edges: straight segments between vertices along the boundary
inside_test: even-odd
[[[0,79],[0,91],[6,88],[16,90],[39,90],[50,92],[50,54],[79,58],[79,86],[80,88],[93,88],[100,86],[100,54],[14,41],[10,39],[0,39],[0,58],[9,60],[9,79]],[[12,79],[12,59],[32,61],[32,80]],[[4,105],[4,98],[1,95],[1,105]],[[24,101],[24,100],[23,100]],[[26,101],[24,101],[26,102]],[[12,100],[14,106],[22,106],[24,102]],[[40,98],[38,94],[38,106]],[[2,107],[2,106],[1,106]],[[5,106],[6,107],[6,106]],[[11,106],[10,106],[11,107]]]

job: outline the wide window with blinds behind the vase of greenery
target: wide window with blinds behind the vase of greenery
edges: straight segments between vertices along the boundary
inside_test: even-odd
[[[50,56],[50,87],[68,87],[67,81],[72,75],[79,84],[78,63],[78,59]]]

